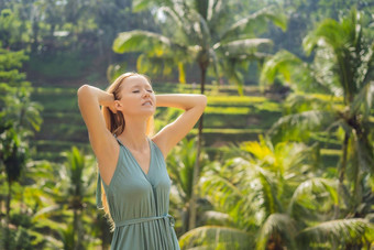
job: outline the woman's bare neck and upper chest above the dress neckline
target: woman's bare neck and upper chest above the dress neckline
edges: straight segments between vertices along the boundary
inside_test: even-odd
[[[123,132],[118,135],[122,143],[132,150],[143,151],[148,146],[146,119],[127,119]]]

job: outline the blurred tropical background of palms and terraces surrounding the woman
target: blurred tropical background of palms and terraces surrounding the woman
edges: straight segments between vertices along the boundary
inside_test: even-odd
[[[182,249],[374,249],[373,0],[1,0],[0,249],[109,249],[77,89],[202,93]],[[155,131],[180,115],[158,108]]]

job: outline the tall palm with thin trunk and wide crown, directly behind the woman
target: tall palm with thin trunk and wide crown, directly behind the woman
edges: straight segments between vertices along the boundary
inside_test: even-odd
[[[239,86],[242,94],[242,75],[238,67],[250,59],[263,59],[266,54],[258,51],[272,42],[267,39],[254,39],[254,26],[267,21],[285,29],[284,15],[274,9],[263,9],[251,15],[237,17],[232,12],[232,2],[222,0],[138,0],[133,1],[136,11],[145,8],[157,10],[163,34],[134,30],[122,32],[113,43],[117,53],[141,52],[138,70],[172,73],[177,66],[179,81],[185,83],[185,66],[197,64],[200,69],[200,93],[205,93],[208,69],[217,77],[227,76]],[[163,29],[163,26],[165,29]],[[197,159],[199,159],[202,137],[202,120],[199,121]],[[194,170],[194,186],[199,176],[199,162]],[[196,191],[193,191],[189,227],[195,227]]]

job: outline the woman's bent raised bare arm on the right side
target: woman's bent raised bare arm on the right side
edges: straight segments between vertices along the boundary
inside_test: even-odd
[[[165,126],[153,140],[164,157],[194,128],[207,106],[204,95],[168,94],[156,95],[157,107],[173,107],[185,110],[175,121]]]

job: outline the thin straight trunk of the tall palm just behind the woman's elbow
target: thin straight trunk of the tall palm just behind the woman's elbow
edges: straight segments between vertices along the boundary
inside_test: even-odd
[[[206,75],[207,75],[207,65],[204,63],[200,64],[200,93],[204,95],[205,93],[205,84],[206,84]],[[201,152],[201,138],[202,138],[202,121],[204,121],[204,115],[201,115],[199,120],[199,132],[198,132],[198,141],[197,141],[197,154],[196,154],[196,161],[194,166],[194,178],[193,178],[193,193],[191,193],[191,199],[189,204],[189,222],[188,222],[188,230],[191,230],[196,227],[196,203],[197,203],[197,183],[199,180],[199,172],[200,172],[200,152]]]

